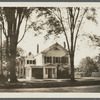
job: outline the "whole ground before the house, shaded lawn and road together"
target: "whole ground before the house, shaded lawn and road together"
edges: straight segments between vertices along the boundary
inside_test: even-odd
[[[18,83],[0,84],[0,92],[94,92],[100,93],[99,77],[70,79],[18,79]]]

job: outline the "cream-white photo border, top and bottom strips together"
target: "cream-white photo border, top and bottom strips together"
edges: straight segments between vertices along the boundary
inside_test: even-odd
[[[100,7],[99,2],[0,2],[0,7]],[[0,98],[100,98],[100,93],[0,92]]]

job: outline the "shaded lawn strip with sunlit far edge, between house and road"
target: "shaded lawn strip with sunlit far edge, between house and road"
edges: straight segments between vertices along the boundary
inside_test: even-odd
[[[72,86],[90,86],[100,85],[99,78],[80,78],[75,82],[69,79],[55,79],[55,80],[32,80],[32,81],[19,81],[17,83],[2,83],[0,88],[46,88],[46,87],[72,87]]]

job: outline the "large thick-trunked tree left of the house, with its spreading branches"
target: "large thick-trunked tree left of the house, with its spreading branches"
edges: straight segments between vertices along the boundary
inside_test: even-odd
[[[6,53],[10,62],[10,82],[17,82],[15,71],[17,44],[23,39],[27,31],[27,23],[32,10],[27,7],[3,7],[0,9],[3,33],[6,37]],[[19,40],[20,27],[23,21],[25,22],[24,33]]]

